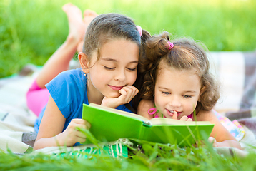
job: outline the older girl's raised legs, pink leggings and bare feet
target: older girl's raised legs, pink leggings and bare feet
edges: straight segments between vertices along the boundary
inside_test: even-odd
[[[41,113],[41,109],[44,108],[49,99],[49,92],[44,85],[62,71],[69,69],[69,62],[77,49],[80,48],[79,51],[82,51],[81,45],[89,22],[97,16],[94,11],[84,11],[84,19],[82,19],[82,11],[70,3],[64,5],[62,9],[67,14],[69,21],[69,35],[66,41],[46,61],[36,81],[26,94],[27,105],[36,115]]]

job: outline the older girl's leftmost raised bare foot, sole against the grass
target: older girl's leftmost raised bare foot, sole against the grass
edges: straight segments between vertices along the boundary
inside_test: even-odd
[[[62,10],[69,21],[69,37],[74,38],[77,43],[82,41],[85,32],[82,11],[71,3],[62,6]]]

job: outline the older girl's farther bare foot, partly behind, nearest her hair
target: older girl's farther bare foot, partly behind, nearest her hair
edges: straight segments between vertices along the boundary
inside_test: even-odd
[[[90,9],[87,9],[84,11],[84,30],[87,30],[87,27],[89,26],[89,23],[96,17],[98,14],[95,11],[92,11]],[[80,43],[77,46],[77,51],[82,51],[84,41],[80,41]]]

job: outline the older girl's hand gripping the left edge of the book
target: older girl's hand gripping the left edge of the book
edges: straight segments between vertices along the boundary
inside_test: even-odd
[[[76,142],[85,142],[86,136],[77,130],[77,127],[89,129],[90,125],[86,120],[73,119],[64,132],[56,135],[57,142],[60,145],[67,145],[67,147],[73,146]]]

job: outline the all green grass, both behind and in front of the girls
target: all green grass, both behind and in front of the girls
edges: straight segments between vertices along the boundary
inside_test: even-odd
[[[0,78],[17,73],[26,63],[43,65],[68,33],[61,6],[67,0],[0,1]],[[210,51],[255,51],[254,0],[72,0],[98,14],[117,12],[132,17],[150,33],[169,31],[190,36]],[[255,154],[245,158],[218,155],[210,147],[181,149],[144,143],[121,160],[106,155],[58,157],[0,152],[0,170],[256,170]],[[161,149],[160,149],[160,148]],[[95,160],[95,158],[97,160]]]

